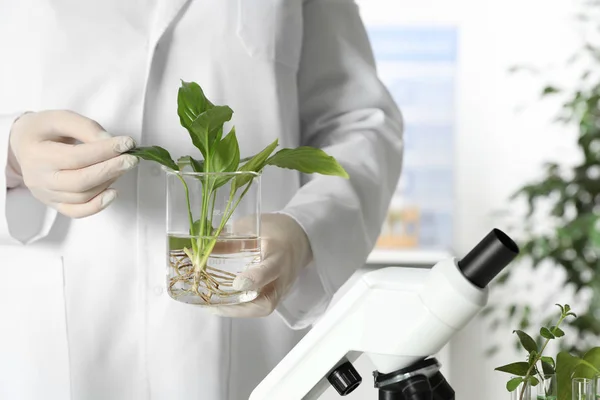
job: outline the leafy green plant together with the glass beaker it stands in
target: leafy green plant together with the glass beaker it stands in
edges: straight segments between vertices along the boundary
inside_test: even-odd
[[[235,127],[224,135],[233,110],[213,104],[195,82],[181,82],[180,123],[199,154],[177,162],[159,146],[131,151],[163,166],[167,176],[167,291],[184,303],[236,304],[256,292],[233,288],[238,273],[260,262],[260,179],[264,168],[348,178],[324,151],[302,146],[275,151],[275,140],[241,158]]]

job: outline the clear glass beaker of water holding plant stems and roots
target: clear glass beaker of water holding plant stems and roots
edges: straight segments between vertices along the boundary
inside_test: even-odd
[[[254,300],[257,291],[235,290],[233,281],[261,262],[260,174],[163,170],[171,298],[204,306]]]

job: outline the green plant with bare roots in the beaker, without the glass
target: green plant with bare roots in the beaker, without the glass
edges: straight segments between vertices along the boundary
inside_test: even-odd
[[[189,216],[189,234],[192,237],[190,248],[183,250],[192,269],[185,273],[177,271],[177,280],[192,281],[191,294],[197,295],[209,303],[210,296],[199,291],[201,284],[209,290],[219,290],[215,277],[207,272],[207,261],[229,218],[231,218],[240,200],[253,183],[250,174],[214,173],[248,172],[261,173],[267,166],[287,168],[306,174],[323,174],[348,178],[342,166],[323,150],[302,146],[295,149],[281,149],[273,153],[278,145],[275,140],[256,155],[240,158],[240,148],[235,127],[223,137],[224,125],[233,116],[233,110],[225,105],[214,105],[195,82],[181,82],[177,97],[177,113],[181,125],[188,131],[193,145],[202,158],[180,157],[177,162],[166,149],[159,146],[137,147],[129,153],[145,160],[157,162],[173,171],[181,171],[189,166],[202,182],[202,204],[199,204],[200,218],[194,220],[188,185],[181,174],[177,174],[186,194]],[[212,175],[211,175],[212,174]],[[213,212],[217,189],[230,185],[229,199],[218,226],[213,226]],[[173,282],[171,282],[172,286]]]

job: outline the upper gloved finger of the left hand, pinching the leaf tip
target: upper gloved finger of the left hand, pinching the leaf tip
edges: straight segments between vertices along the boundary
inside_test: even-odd
[[[91,143],[63,144],[47,142],[49,158],[56,169],[81,169],[101,163],[135,147],[135,142],[128,136],[117,136]]]

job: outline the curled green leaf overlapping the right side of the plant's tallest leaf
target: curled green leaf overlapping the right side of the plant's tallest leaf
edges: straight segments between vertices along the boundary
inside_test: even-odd
[[[204,156],[209,159],[209,152],[212,149],[219,132],[222,132],[223,124],[231,119],[233,111],[227,106],[215,106],[206,110],[192,122],[189,128],[190,136],[194,146]],[[211,152],[212,153],[212,152]]]

